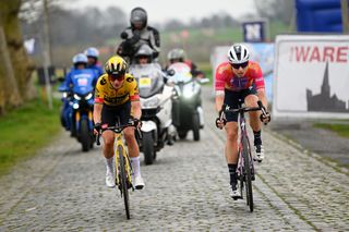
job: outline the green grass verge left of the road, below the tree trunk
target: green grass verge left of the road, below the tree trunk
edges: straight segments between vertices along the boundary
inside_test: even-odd
[[[35,100],[0,118],[0,175],[52,141],[60,131],[59,101],[53,110]]]

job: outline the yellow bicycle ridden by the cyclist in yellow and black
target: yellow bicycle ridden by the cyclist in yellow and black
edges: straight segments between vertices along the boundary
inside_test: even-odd
[[[130,219],[129,190],[131,188],[132,191],[134,191],[134,187],[131,181],[131,174],[133,173],[132,166],[131,166],[129,154],[125,149],[122,131],[129,126],[135,126],[134,122],[132,121],[127,125],[109,126],[101,130],[101,132],[106,130],[111,130],[116,133],[116,139],[115,139],[116,185],[120,191],[121,197],[123,197],[124,208],[125,208],[128,219]],[[97,134],[97,138],[96,138],[96,144],[98,146],[100,145],[99,137],[101,132]]]

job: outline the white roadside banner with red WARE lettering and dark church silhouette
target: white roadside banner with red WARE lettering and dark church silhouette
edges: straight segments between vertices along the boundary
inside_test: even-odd
[[[280,35],[274,117],[349,118],[349,36]]]

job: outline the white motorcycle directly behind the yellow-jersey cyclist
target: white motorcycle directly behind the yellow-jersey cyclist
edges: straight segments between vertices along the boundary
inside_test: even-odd
[[[145,164],[152,164],[156,152],[165,144],[171,145],[176,138],[172,125],[173,87],[166,85],[164,73],[158,63],[133,64],[130,73],[136,78],[142,108],[142,139],[140,150],[144,154]]]

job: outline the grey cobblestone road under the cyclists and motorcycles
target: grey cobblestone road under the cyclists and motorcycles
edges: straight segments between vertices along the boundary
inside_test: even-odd
[[[83,154],[63,133],[0,180],[0,231],[349,230],[348,175],[267,130],[255,211],[230,199],[224,132],[214,129],[206,91],[201,142],[189,134],[159,152],[155,164],[142,163],[146,187],[131,193],[131,220],[118,193],[105,187],[100,148]]]

